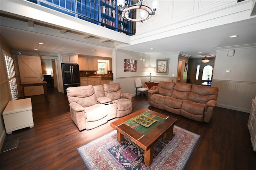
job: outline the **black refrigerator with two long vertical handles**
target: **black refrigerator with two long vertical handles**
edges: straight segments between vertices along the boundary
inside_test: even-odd
[[[78,64],[61,64],[64,94],[67,93],[68,87],[80,86],[79,65]]]

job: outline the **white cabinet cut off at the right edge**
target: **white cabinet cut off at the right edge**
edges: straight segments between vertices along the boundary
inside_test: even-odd
[[[252,148],[254,151],[256,151],[256,99],[252,99],[252,108],[250,111],[247,126],[250,132]]]

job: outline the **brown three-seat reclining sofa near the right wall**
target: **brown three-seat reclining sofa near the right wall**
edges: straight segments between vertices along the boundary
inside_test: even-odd
[[[217,104],[218,88],[188,83],[159,82],[148,91],[148,103],[158,109],[209,123]]]

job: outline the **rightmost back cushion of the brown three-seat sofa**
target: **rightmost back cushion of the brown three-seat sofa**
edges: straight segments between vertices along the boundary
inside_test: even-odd
[[[206,104],[209,100],[217,100],[217,97],[218,87],[207,87],[193,84],[188,100]]]

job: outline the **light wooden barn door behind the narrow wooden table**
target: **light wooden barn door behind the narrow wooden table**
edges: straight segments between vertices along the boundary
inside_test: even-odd
[[[21,82],[42,81],[41,59],[38,56],[18,55]],[[44,94],[43,86],[24,87],[25,96]]]

